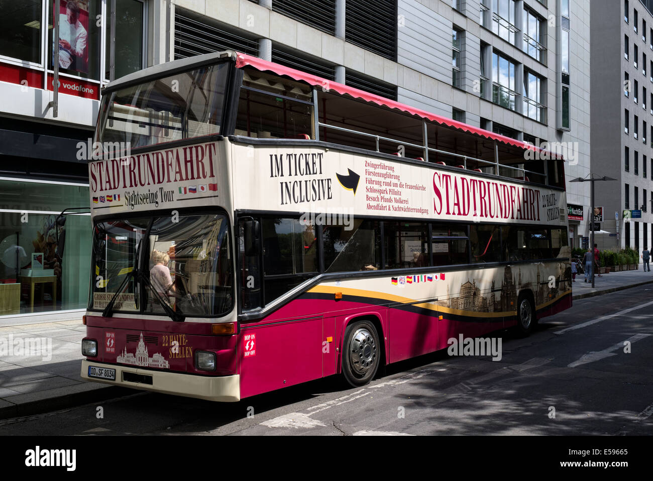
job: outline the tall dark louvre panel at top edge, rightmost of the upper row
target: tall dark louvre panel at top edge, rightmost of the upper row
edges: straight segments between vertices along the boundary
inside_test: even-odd
[[[345,39],[390,60],[397,56],[396,0],[347,0]]]

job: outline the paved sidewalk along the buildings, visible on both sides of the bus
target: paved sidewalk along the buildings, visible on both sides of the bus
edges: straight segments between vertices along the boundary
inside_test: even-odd
[[[596,287],[577,275],[573,299],[653,283],[653,272],[613,272],[595,277]],[[10,325],[0,321],[0,419],[54,411],[103,399],[135,394],[136,390],[86,382],[80,377],[82,320]],[[16,346],[39,343],[39,356],[25,356]],[[7,346],[12,352],[7,354]]]

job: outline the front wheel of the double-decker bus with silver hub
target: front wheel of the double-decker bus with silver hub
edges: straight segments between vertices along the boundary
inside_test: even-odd
[[[342,374],[351,386],[363,386],[374,378],[381,350],[379,334],[372,322],[358,320],[347,326],[342,354]]]

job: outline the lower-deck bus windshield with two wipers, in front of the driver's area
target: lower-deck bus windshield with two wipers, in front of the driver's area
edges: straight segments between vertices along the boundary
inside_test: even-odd
[[[91,309],[118,294],[116,312],[219,316],[233,305],[233,272],[225,215],[112,219],[95,225]],[[142,274],[133,275],[133,272]],[[125,276],[131,279],[125,280]]]

